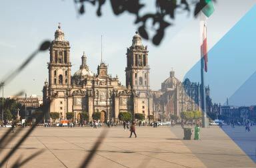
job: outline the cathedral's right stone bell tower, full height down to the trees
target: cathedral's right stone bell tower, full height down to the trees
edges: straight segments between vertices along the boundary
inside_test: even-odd
[[[143,114],[145,119],[153,115],[153,98],[149,87],[149,62],[147,46],[143,46],[141,37],[133,36],[132,45],[127,48],[126,86],[135,92],[133,97],[133,116]],[[133,118],[134,120],[134,118]]]

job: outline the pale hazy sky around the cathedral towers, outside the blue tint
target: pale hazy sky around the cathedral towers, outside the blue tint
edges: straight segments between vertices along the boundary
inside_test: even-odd
[[[143,12],[152,11],[154,1],[147,2]],[[255,0],[217,1],[215,13],[208,19],[208,44],[211,49],[229,30],[253,7]],[[73,1],[1,1],[0,17],[0,79],[17,68],[31,52],[45,39],[53,40],[58,23],[71,44],[71,73],[81,64],[83,51],[87,64],[96,73],[101,59],[101,35],[103,35],[103,60],[109,64],[109,74],[119,76],[125,84],[126,48],[137,25],[135,17],[124,13],[113,15],[107,3],[102,8],[102,17],[97,17],[97,8],[86,5],[85,15],[78,15]],[[169,77],[171,68],[183,80],[200,58],[199,21],[192,13],[178,15],[174,26],[169,27],[160,46],[143,41],[149,48],[150,86],[159,90],[161,82]],[[49,52],[42,52],[4,88],[4,96],[24,90],[27,95],[42,95],[42,88],[48,78],[47,62]],[[251,73],[253,74],[253,72]],[[197,82],[197,81],[195,81]],[[244,81],[245,82],[245,81]],[[211,86],[210,86],[211,87]],[[229,94],[233,94],[234,86]],[[213,98],[217,102],[225,98]]]

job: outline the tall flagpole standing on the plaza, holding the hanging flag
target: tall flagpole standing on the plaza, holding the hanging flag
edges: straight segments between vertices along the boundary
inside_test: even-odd
[[[206,21],[203,21],[203,29],[206,27]],[[203,38],[202,38],[203,39]],[[203,44],[203,42],[202,42]],[[205,60],[203,48],[201,47],[201,108],[203,111],[203,127],[207,127],[206,99],[205,99]]]

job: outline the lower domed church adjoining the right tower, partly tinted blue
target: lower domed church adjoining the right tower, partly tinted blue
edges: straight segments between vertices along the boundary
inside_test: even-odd
[[[207,105],[209,94],[210,89],[207,86],[205,88]],[[180,116],[181,112],[194,110],[201,111],[201,85],[190,82],[188,78],[181,82],[171,70],[169,78],[161,84],[161,90],[153,91],[155,120],[169,121],[171,115]]]

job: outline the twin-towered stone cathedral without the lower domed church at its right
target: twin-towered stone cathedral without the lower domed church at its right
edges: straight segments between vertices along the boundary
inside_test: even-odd
[[[59,25],[49,49],[49,80],[43,86],[43,103],[49,104],[46,120],[51,112],[59,112],[59,120],[66,120],[66,113],[73,112],[76,122],[80,122],[81,112],[88,113],[89,121],[93,120],[94,112],[101,112],[101,122],[119,122],[119,112],[131,112],[133,118],[136,113],[143,114],[146,120],[153,115],[148,50],[138,33],[127,48],[126,86],[121,85],[117,76],[108,74],[105,62],[101,61],[97,74],[93,74],[85,52],[79,70],[72,75],[70,50],[69,41],[65,40]]]

